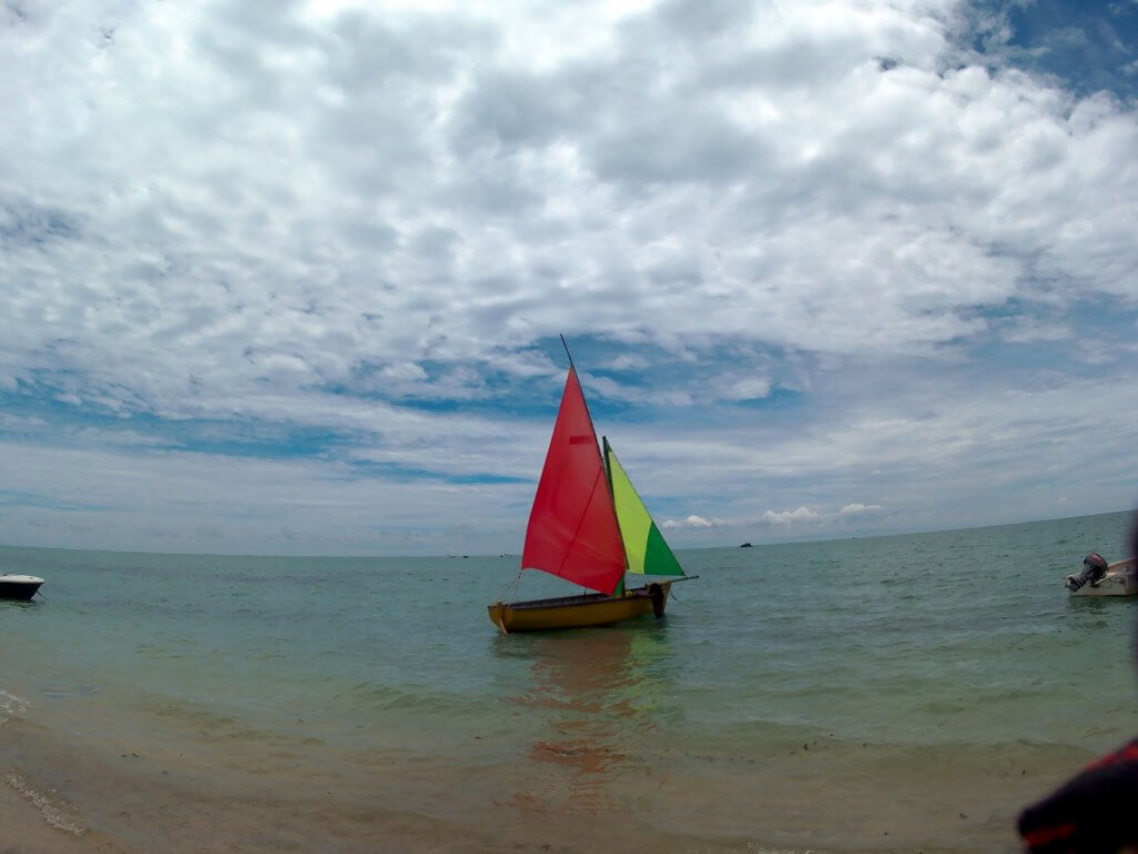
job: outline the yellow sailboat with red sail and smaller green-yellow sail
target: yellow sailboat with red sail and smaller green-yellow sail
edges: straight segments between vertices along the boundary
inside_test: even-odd
[[[526,569],[556,575],[594,592],[498,600],[487,610],[504,633],[608,625],[646,614],[659,618],[673,583],[698,577],[684,574],[608,438],[603,438],[603,450],[597,444],[571,356],[526,528],[521,572]],[[660,580],[627,589],[626,573]]]

